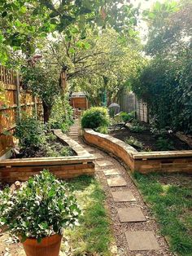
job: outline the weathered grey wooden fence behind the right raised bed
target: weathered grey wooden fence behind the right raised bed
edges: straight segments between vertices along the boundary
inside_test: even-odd
[[[130,92],[129,90],[124,90],[120,94],[118,104],[120,104],[120,111],[128,113],[135,111],[137,119],[139,121],[149,121],[146,102],[144,102],[142,99],[137,99],[133,92]]]

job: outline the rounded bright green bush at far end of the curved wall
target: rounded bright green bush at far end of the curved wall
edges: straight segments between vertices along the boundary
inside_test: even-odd
[[[81,118],[82,128],[97,129],[100,126],[109,126],[109,115],[107,108],[93,107],[87,109]]]

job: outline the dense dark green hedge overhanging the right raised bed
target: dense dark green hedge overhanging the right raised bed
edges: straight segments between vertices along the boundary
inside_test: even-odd
[[[191,64],[182,60],[182,67],[169,60],[151,61],[143,68],[133,91],[144,99],[159,128],[192,132]]]

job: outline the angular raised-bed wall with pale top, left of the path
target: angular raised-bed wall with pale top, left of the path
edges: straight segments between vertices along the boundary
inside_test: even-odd
[[[0,161],[0,181],[14,183],[26,181],[43,169],[48,169],[60,179],[72,179],[83,174],[94,175],[94,156],[81,147],[61,130],[54,130],[55,135],[67,143],[76,153],[72,157],[35,157]]]

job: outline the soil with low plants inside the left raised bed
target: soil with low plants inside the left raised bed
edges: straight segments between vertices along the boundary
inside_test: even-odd
[[[19,153],[13,152],[11,159],[13,158],[28,158],[28,157],[64,157],[60,152],[63,148],[66,148],[69,152],[69,156],[76,156],[76,152],[69,148],[67,144],[63,144],[59,139],[47,140],[46,144],[42,147],[33,148],[20,148]],[[53,153],[51,156],[50,151]]]

